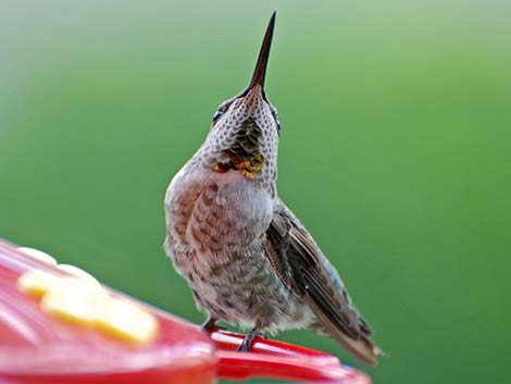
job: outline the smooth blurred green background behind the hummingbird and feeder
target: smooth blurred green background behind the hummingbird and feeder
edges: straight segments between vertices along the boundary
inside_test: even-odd
[[[167,183],[266,77],[278,188],[389,357],[376,383],[509,383],[511,5],[2,1],[0,236],[194,322],[162,250]]]

